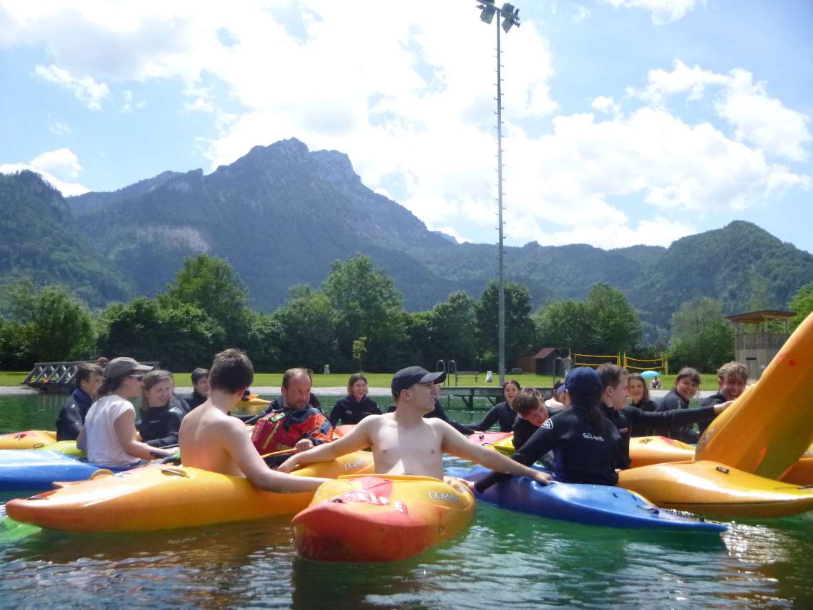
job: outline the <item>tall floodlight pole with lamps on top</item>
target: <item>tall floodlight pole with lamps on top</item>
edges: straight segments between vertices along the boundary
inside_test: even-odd
[[[515,8],[513,4],[506,2],[502,8],[494,6],[494,0],[483,0],[477,5],[480,9],[480,20],[486,24],[491,24],[494,20],[494,15],[499,15],[497,20],[497,231],[498,231],[498,282],[499,282],[499,297],[498,297],[498,359],[499,359],[499,373],[500,385],[505,384],[506,381],[506,287],[505,287],[505,267],[503,263],[503,246],[502,246],[502,75],[500,72],[500,60],[502,59],[500,50],[500,20],[502,20],[502,29],[505,33],[513,26],[520,27],[520,9]]]

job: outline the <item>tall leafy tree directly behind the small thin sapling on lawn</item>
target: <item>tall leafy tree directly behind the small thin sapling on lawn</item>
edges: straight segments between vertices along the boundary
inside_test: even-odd
[[[401,293],[383,268],[367,256],[331,265],[323,285],[336,314],[336,335],[342,357],[352,361],[353,342],[367,337],[367,367],[386,370],[399,364],[399,347],[406,339]],[[349,365],[350,362],[346,362]]]

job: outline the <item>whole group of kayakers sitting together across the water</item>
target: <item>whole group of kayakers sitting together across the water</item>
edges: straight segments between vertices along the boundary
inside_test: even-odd
[[[505,474],[549,481],[548,475],[528,468],[546,454],[559,481],[615,485],[616,469],[629,466],[631,435],[659,430],[680,438],[691,425],[706,425],[728,407],[747,381],[743,365],[725,364],[718,373],[720,392],[706,399],[710,404],[688,408],[699,383],[691,368],[680,371],[659,405],[649,399],[640,376],[615,364],[574,368],[554,384],[547,401],[537,390],[507,381],[505,402],[480,421],[460,424],[450,420],[437,401],[444,377],[420,367],[398,371],[391,385],[393,405],[382,413],[367,396],[367,379],[354,374],[347,396],[328,417],[311,393],[311,372],[292,368],[283,377],[280,397],[256,416],[241,420],[231,410],[254,379],[253,366],[242,352],[221,352],[211,371],[196,369],[193,393],[182,399],[173,394],[170,373],[120,357],[103,369],[80,364],[76,390],[60,412],[57,427],[60,439],[78,437],[77,446],[88,452],[93,464],[128,468],[174,455],[172,446],[180,444],[185,465],[243,474],[266,490],[313,489],[319,479],[289,478],[286,473],[365,447],[372,447],[378,473],[442,477],[443,452],[475,461],[495,471],[477,483],[481,490]],[[138,421],[130,402],[137,396],[142,399]],[[627,404],[628,397],[633,404]],[[251,434],[246,419],[254,425]],[[354,428],[333,440],[333,428],[345,424]],[[514,433],[513,459],[463,436],[495,424]]]

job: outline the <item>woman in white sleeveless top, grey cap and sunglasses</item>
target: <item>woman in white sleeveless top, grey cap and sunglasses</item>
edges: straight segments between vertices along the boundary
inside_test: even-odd
[[[130,468],[141,460],[168,457],[172,451],[138,442],[136,408],[129,401],[141,394],[144,373],[152,367],[133,358],[114,358],[104,370],[99,399],[90,407],[76,447],[88,452],[88,461],[111,468]]]

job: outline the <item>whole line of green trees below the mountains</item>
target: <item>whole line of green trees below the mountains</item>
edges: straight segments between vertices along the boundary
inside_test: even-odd
[[[506,363],[543,346],[582,353],[666,354],[672,368],[711,372],[733,359],[733,331],[722,305],[709,298],[684,303],[667,345],[641,346],[641,320],[626,295],[593,285],[583,301],[554,301],[531,310],[528,288],[506,283]],[[797,323],[813,309],[813,284],[790,306]],[[250,308],[245,285],[224,259],[185,260],[172,284],[154,298],[137,297],[90,312],[59,285],[30,279],[0,292],[0,368],[34,362],[115,357],[159,360],[176,371],[205,366],[229,346],[245,350],[259,370],[291,366],[334,371],[392,371],[405,364],[433,368],[454,359],[459,370],[497,368],[498,285],[480,299],[462,291],[425,312],[406,312],[402,294],[366,256],[333,263],[319,289],[296,285],[272,313]]]

